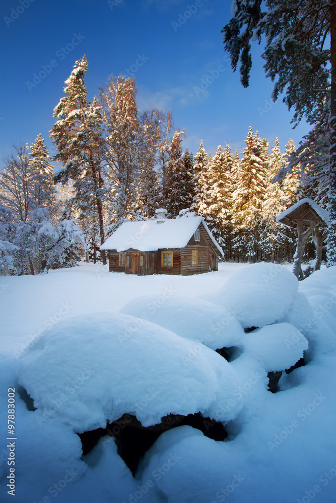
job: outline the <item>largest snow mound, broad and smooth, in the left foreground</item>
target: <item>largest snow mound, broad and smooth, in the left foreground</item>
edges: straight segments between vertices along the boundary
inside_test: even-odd
[[[202,344],[149,321],[95,313],[59,322],[20,360],[36,420],[59,417],[82,433],[124,413],[143,426],[169,413],[204,412],[233,396],[230,364]],[[234,418],[236,402],[224,421]]]

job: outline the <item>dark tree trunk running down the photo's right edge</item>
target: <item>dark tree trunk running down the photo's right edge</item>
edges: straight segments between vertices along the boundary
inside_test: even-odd
[[[336,265],[336,0],[330,2],[331,106],[330,175],[327,267]]]

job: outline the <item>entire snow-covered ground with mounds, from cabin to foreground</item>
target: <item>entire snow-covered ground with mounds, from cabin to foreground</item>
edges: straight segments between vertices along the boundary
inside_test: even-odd
[[[12,500],[14,473],[18,503],[333,502],[336,268],[301,283],[288,269],[138,277],[81,264],[3,278],[0,501]],[[222,347],[237,348],[230,363]],[[267,391],[267,372],[303,351],[306,365]],[[19,385],[36,410],[16,393],[14,437],[8,390]],[[125,412],[150,426],[198,411],[227,439],[169,430],[135,477],[111,436],[82,457],[75,433]]]

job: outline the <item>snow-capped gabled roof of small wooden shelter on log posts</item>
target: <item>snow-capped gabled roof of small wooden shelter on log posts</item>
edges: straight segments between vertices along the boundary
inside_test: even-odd
[[[303,220],[304,224],[309,227],[311,221],[316,222],[316,225],[328,225],[329,215],[315,201],[304,198],[277,216],[276,220],[287,227],[294,228],[296,228],[298,220]]]

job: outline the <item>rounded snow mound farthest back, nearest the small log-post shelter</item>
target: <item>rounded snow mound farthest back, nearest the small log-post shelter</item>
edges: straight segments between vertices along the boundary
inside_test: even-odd
[[[212,301],[234,312],[243,327],[282,321],[298,291],[298,280],[275,264],[253,264],[232,275]]]

